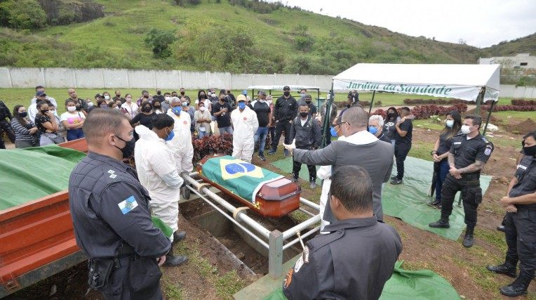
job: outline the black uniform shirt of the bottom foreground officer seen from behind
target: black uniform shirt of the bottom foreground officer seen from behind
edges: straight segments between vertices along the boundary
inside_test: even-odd
[[[283,280],[288,299],[378,299],[402,252],[391,226],[376,217],[347,219],[316,235]]]

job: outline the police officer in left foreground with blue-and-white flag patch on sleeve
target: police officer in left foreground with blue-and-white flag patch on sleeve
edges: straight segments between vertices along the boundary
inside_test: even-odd
[[[136,171],[121,162],[133,153],[133,128],[119,110],[95,108],[83,133],[89,152],[69,178],[69,206],[88,284],[106,299],[162,299],[159,265],[171,243],[153,226]]]

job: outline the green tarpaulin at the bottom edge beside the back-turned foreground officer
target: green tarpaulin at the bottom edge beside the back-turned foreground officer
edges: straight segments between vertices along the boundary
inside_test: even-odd
[[[397,261],[394,273],[385,282],[380,299],[389,300],[453,300],[460,299],[450,283],[431,270],[404,270],[402,261]],[[264,300],[286,299],[282,287],[269,294]]]

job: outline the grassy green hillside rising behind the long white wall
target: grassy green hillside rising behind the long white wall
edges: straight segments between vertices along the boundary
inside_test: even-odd
[[[244,1],[94,2],[105,6],[104,18],[35,31],[1,27],[0,66],[336,74],[361,62],[476,63],[493,52],[295,8],[257,13]],[[168,39],[158,56],[145,42],[149,32]]]

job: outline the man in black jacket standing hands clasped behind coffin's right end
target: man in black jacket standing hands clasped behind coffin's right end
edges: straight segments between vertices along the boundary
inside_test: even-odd
[[[309,114],[307,103],[302,103],[298,110],[300,111],[300,116],[296,117],[290,126],[290,141],[296,140],[297,149],[315,150],[322,143],[319,122],[316,122],[316,119],[313,119]],[[302,163],[293,160],[292,174],[294,182],[297,182],[297,178],[300,176],[300,169],[302,169]],[[316,167],[312,164],[307,164],[307,169],[309,169],[309,186],[316,188]]]

